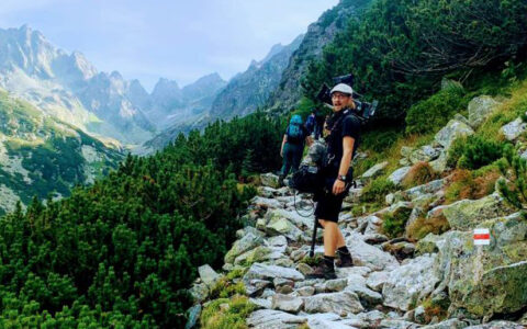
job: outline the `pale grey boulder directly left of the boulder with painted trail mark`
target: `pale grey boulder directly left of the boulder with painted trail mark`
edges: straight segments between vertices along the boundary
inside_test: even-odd
[[[430,271],[435,259],[435,254],[421,256],[392,271],[382,287],[384,305],[408,310],[426,298],[439,281]]]

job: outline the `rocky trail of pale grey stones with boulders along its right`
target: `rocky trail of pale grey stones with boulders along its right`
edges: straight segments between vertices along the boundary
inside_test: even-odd
[[[485,110],[486,111],[486,110]],[[489,112],[489,111],[487,111]],[[401,166],[390,180],[400,183],[410,166],[429,161],[442,166],[445,151],[456,136],[470,133],[461,115],[436,135],[436,143],[402,149]],[[435,161],[435,163],[433,163]],[[365,180],[383,169],[366,172]],[[246,215],[248,226],[225,256],[224,273],[238,270],[249,300],[257,305],[246,320],[249,328],[527,328],[527,220],[494,192],[479,200],[444,205],[442,178],[385,196],[386,207],[354,217],[351,206],[362,188],[345,200],[339,227],[354,266],[336,269],[336,280],[306,280],[323,254],[318,231],[315,258],[309,257],[313,216],[300,216],[298,206],[311,204],[278,189],[278,178],[262,174],[262,186]],[[305,212],[305,209],[301,211]],[[441,235],[428,234],[416,241],[389,239],[382,223],[386,216],[407,218],[416,225],[448,224]],[[475,247],[473,229],[489,228],[491,245]],[[209,265],[190,292],[199,302],[190,309],[188,328],[206,307],[209,292],[225,277]],[[225,284],[226,281],[223,281]],[[225,304],[225,307],[228,307]]]

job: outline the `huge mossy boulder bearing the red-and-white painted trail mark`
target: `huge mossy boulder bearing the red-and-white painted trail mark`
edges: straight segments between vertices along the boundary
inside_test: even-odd
[[[448,231],[436,240],[436,292],[448,291],[450,311],[484,317],[527,305],[527,223],[519,214],[482,220],[491,245],[476,248],[472,231]]]

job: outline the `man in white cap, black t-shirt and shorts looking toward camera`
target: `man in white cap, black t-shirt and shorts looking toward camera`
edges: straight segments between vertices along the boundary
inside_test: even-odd
[[[339,83],[332,91],[333,114],[326,122],[327,152],[321,171],[323,186],[315,193],[315,218],[324,229],[324,262],[310,277],[336,279],[336,265],[352,266],[351,254],[338,228],[338,214],[352,182],[351,159],[358,146],[360,121],[354,114],[351,87]]]

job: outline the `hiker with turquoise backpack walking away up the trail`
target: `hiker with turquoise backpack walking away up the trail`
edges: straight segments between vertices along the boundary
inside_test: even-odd
[[[311,145],[310,134],[302,124],[302,117],[295,114],[289,122],[280,149],[280,156],[283,158],[283,166],[279,177],[280,186],[283,186],[283,179],[290,170],[292,170],[293,173],[299,170],[305,143]]]

